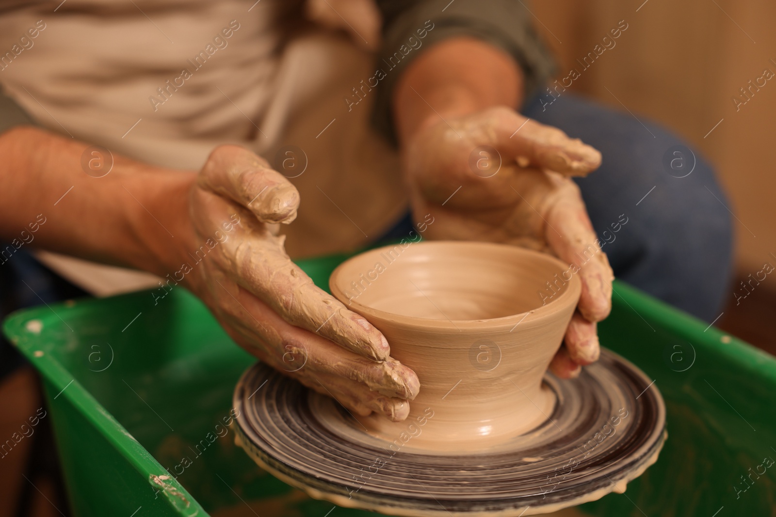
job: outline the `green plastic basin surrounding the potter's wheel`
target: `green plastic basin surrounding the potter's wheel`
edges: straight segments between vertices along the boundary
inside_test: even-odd
[[[327,288],[344,258],[299,264]],[[613,302],[601,343],[655,380],[668,440],[625,494],[580,510],[776,515],[774,357],[626,284]],[[32,308],[4,330],[43,378],[74,515],[366,515],[305,497],[234,445],[231,395],[255,360],[184,289],[158,305],[141,291]]]

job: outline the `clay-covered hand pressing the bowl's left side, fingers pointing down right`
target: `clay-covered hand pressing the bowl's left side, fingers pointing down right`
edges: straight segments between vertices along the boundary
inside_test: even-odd
[[[220,146],[189,196],[194,265],[181,274],[232,339],[352,412],[406,418],[417,376],[283,249],[278,225],[296,218],[296,188],[254,153]]]

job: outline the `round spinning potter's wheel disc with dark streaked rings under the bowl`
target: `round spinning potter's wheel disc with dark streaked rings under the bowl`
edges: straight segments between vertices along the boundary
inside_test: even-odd
[[[256,364],[234,392],[235,429],[282,481],[391,515],[553,512],[622,491],[655,462],[665,406],[633,364],[601,350],[577,379],[544,382],[557,397],[549,420],[498,450],[445,455],[369,436],[336,402]]]

